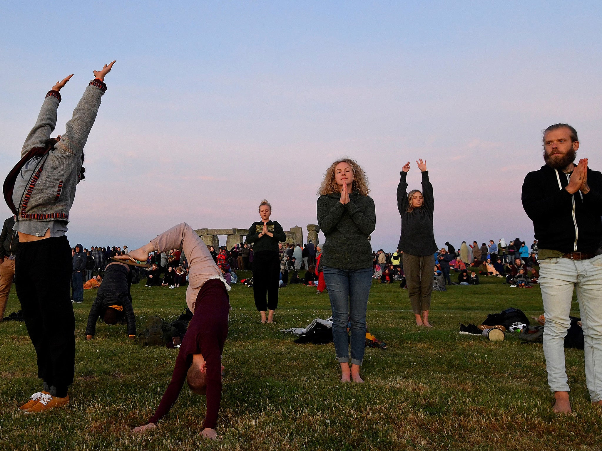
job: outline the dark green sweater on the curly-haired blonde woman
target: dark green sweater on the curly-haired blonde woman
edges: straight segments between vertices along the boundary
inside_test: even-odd
[[[349,203],[340,200],[338,192],[318,197],[318,225],[326,236],[322,263],[338,269],[370,268],[372,247],[368,236],[376,228],[374,201],[358,192],[349,194]]]

